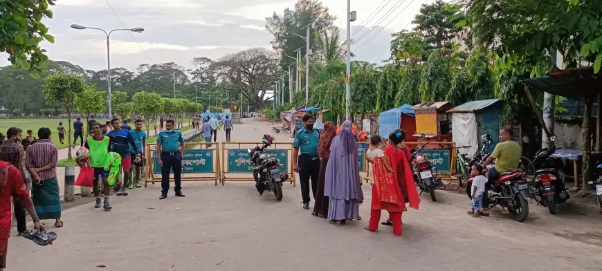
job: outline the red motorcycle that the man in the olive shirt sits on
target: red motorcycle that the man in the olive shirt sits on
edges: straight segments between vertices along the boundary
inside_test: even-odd
[[[472,186],[474,178],[468,179],[468,185]],[[529,185],[525,178],[525,172],[516,170],[500,174],[491,189],[489,189],[489,209],[500,205],[507,208],[515,221],[522,222],[529,216],[529,203],[531,199]],[[468,195],[468,198],[471,198]]]

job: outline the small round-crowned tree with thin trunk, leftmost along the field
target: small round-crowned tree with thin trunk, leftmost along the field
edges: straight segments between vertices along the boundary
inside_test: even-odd
[[[75,98],[86,90],[86,81],[80,75],[68,75],[57,73],[46,77],[44,80],[44,98],[47,104],[60,104],[65,110],[67,117],[67,126],[69,135],[67,143],[69,144],[68,156],[71,159],[71,113],[75,109]]]

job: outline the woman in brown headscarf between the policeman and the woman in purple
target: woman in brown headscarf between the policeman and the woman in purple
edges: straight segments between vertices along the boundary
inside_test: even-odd
[[[324,132],[318,142],[318,156],[320,156],[320,175],[318,176],[318,191],[316,192],[316,203],[313,204],[311,215],[326,218],[328,215],[328,205],[330,198],[324,196],[324,180],[326,176],[326,165],[330,157],[330,145],[332,139],[336,136],[336,127],[334,123],[326,122]]]

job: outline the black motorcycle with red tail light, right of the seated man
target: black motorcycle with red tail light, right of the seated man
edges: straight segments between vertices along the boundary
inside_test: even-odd
[[[556,214],[556,205],[566,202],[571,196],[565,188],[565,182],[558,169],[562,169],[562,163],[551,159],[556,148],[554,140],[556,136],[549,138],[549,147],[540,149],[533,158],[533,167],[536,170],[531,179],[531,194],[538,205],[547,207],[550,214]]]

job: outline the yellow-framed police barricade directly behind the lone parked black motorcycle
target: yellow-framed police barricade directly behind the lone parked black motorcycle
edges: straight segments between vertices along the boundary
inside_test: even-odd
[[[255,181],[253,178],[253,166],[250,165],[248,149],[253,149],[262,145],[262,142],[221,142],[221,185],[226,181],[244,182]],[[280,173],[289,174],[286,180],[297,185],[295,174],[293,173],[293,143],[292,142],[274,142],[265,153],[273,154],[280,160]]]

